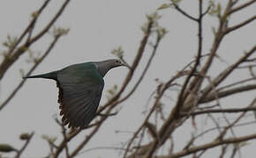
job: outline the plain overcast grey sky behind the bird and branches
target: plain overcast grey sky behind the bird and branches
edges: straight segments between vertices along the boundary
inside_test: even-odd
[[[1,0],[0,3],[0,42],[4,42],[7,34],[11,36],[19,35],[29,22],[29,15],[38,9],[43,1],[41,0]],[[40,24],[47,21],[53,15],[63,1],[53,1],[43,14]],[[85,61],[102,61],[113,58],[110,54],[113,48],[122,46],[124,48],[124,58],[129,63],[139,47],[139,41],[143,35],[140,26],[146,22],[146,14],[155,11],[162,3],[168,1],[159,0],[75,0],[66,8],[64,14],[56,23],[56,26],[71,28],[67,36],[60,39],[56,47],[42,62],[34,74],[49,72],[59,68],[64,68],[72,63]],[[194,1],[186,3],[184,10],[197,15],[197,5]],[[255,14],[255,4],[245,12],[236,14],[230,24],[236,24],[248,15]],[[102,126],[99,133],[91,140],[90,147],[118,147],[120,141],[131,138],[130,133],[115,133],[116,130],[133,131],[140,125],[141,111],[145,109],[149,91],[155,89],[156,77],[166,81],[174,75],[184,64],[191,61],[197,48],[197,25],[193,24],[174,10],[160,11],[162,19],[160,24],[167,28],[169,33],[162,40],[159,50],[154,59],[154,66],[149,69],[145,82],[140,85],[139,91],[125,104],[117,116],[109,118]],[[211,27],[215,26],[216,19],[209,18],[204,21],[204,52],[209,50],[212,44],[213,34]],[[256,24],[246,26],[238,32],[233,33],[230,38],[223,41],[225,47],[220,49],[220,54],[231,63],[245,50],[255,44]],[[38,28],[37,28],[38,30]],[[253,31],[253,33],[252,33]],[[238,38],[239,37],[239,38]],[[242,39],[242,40],[241,40]],[[43,39],[40,44],[33,47],[34,51],[43,51],[50,42],[50,37]],[[2,48],[2,47],[0,47]],[[150,53],[150,52],[148,52]],[[231,55],[230,55],[231,54]],[[148,54],[146,53],[148,57]],[[147,60],[143,59],[143,63]],[[0,57],[1,59],[2,57]],[[24,60],[26,56],[23,57]],[[0,83],[0,101],[11,92],[12,88],[21,80],[19,67],[27,69],[26,63],[19,62],[6,74]],[[222,68],[225,64],[220,64]],[[17,69],[17,70],[15,70]],[[218,68],[216,68],[218,69]],[[122,83],[126,68],[116,68],[105,77],[105,89],[111,88],[115,83]],[[215,69],[213,69],[215,72]],[[235,75],[234,79],[240,77]],[[252,98],[252,96],[250,97]],[[249,97],[243,97],[248,99]],[[0,113],[1,136],[0,142],[11,143],[19,147],[23,142],[19,140],[19,133],[34,131],[34,139],[27,148],[24,156],[40,157],[49,151],[46,141],[41,140],[41,134],[56,136],[60,128],[56,126],[53,118],[58,116],[58,104],[56,83],[48,80],[30,80],[26,82],[17,96]],[[102,97],[102,102],[106,98]],[[237,102],[236,102],[237,103]],[[190,133],[181,133],[190,137]],[[83,136],[84,134],[81,134]],[[57,135],[59,140],[60,135]],[[254,146],[255,147],[255,146]],[[247,153],[253,152],[252,147],[248,147]],[[117,151],[96,150],[79,157],[119,157]]]

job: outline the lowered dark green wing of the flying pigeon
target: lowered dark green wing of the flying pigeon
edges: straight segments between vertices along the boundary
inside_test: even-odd
[[[87,68],[76,70],[76,73],[60,73],[56,83],[64,125],[86,127],[95,117],[102,97],[102,76],[95,68]]]

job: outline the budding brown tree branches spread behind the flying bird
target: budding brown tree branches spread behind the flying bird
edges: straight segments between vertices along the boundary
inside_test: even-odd
[[[53,41],[41,57],[35,58],[29,50],[29,47],[38,42],[38,39],[43,38],[43,35],[49,31],[70,1],[64,1],[63,6],[56,12],[56,16],[49,21],[49,24],[41,32],[34,35],[36,21],[40,18],[41,12],[44,11],[49,2],[50,0],[46,0],[41,5],[41,8],[32,14],[33,19],[31,23],[19,38],[12,39],[8,37],[7,41],[4,42],[7,51],[4,52],[4,59],[0,65],[0,80],[4,78],[5,73],[11,68],[12,64],[19,60],[19,56],[26,52],[31,54],[30,60],[34,61],[34,67],[26,75],[31,74],[34,68],[49,54],[57,40],[68,32],[68,29],[53,29]],[[162,81],[161,78],[156,80],[156,89],[152,93],[148,93],[150,98],[148,99],[147,110],[145,111],[144,119],[141,121],[141,126],[132,133],[131,139],[124,144],[124,147],[116,148],[123,151],[123,157],[173,158],[185,155],[203,157],[212,152],[211,149],[214,147],[221,151],[215,157],[235,157],[237,154],[242,155],[242,147],[250,146],[251,142],[248,143],[248,140],[255,139],[256,134],[252,132],[241,135],[239,130],[252,128],[255,124],[255,118],[249,114],[249,111],[254,112],[256,110],[256,97],[253,95],[256,89],[253,69],[255,67],[253,62],[255,61],[256,44],[254,43],[251,47],[245,47],[245,53],[241,52],[241,55],[225,68],[217,68],[214,72],[212,72],[212,69],[215,69],[219,62],[222,63],[227,60],[220,53],[220,49],[225,47],[225,45],[221,46],[224,41],[223,39],[255,22],[256,15],[247,15],[243,21],[232,24],[232,19],[238,12],[246,11],[249,7],[255,6],[255,2],[255,0],[248,0],[246,2],[229,0],[224,4],[215,1],[206,3],[205,1],[198,0],[194,2],[198,4],[198,16],[194,16],[189,13],[190,11],[184,10],[183,6],[186,2],[180,0],[171,0],[168,4],[162,4],[159,7],[158,11],[175,10],[183,15],[184,18],[190,20],[191,23],[196,24],[197,52],[194,59],[188,61],[168,81]],[[92,140],[95,133],[101,130],[105,121],[113,115],[118,115],[118,111],[115,112],[117,107],[129,102],[129,98],[139,89],[139,84],[145,81],[148,68],[153,64],[161,62],[153,62],[159,44],[167,33],[166,29],[160,25],[160,18],[161,16],[157,12],[147,15],[147,22],[142,26],[144,35],[139,43],[136,56],[132,64],[130,64],[130,71],[120,88],[114,87],[108,90],[109,100],[99,108],[98,113],[101,113],[101,115],[94,118],[94,123],[87,126],[85,130],[67,129],[56,119],[57,125],[62,129],[63,140],[56,144],[54,138],[44,137],[49,143],[49,157],[59,157],[62,153],[66,157],[77,156],[84,147],[89,145],[88,142]],[[210,49],[205,50],[206,40],[204,39],[204,33],[207,30],[204,27],[206,25],[204,21],[208,18],[217,19],[218,25],[212,29],[213,39],[207,39],[213,41]],[[148,57],[142,72],[138,74],[136,70],[141,67],[141,60],[147,48],[152,53]],[[169,47],[169,49],[172,48]],[[112,53],[116,54],[121,60],[128,62],[124,58],[124,51],[121,47],[114,49]],[[189,52],[188,54],[194,53]],[[243,77],[234,81],[232,79],[234,74],[243,74]],[[136,76],[139,79],[136,82],[131,82]],[[3,108],[7,108],[6,105],[8,105],[11,98],[15,97],[15,94],[24,82],[19,83],[19,86],[13,90],[10,97],[1,103],[0,111]],[[143,88],[140,87],[140,89]],[[229,102],[225,102],[230,98],[235,99],[237,96],[242,96],[245,93],[253,96],[250,103],[248,100],[243,100],[243,104],[233,108],[229,107]],[[169,99],[169,97],[175,99]],[[249,97],[247,98],[249,99]],[[170,110],[169,104],[172,105]],[[199,120],[204,119],[206,119],[206,125],[200,125]],[[188,141],[176,137],[180,129],[190,129],[192,131],[191,138]],[[88,133],[84,140],[76,142],[75,145],[72,144],[74,149],[71,150],[70,142],[74,141],[74,138],[78,135],[84,134],[85,131]],[[20,135],[20,139],[26,141],[21,149],[16,149],[8,144],[2,144],[0,151],[13,151],[16,153],[16,157],[19,157],[33,138],[33,135],[34,133],[23,133]],[[206,137],[210,138],[206,139]],[[180,147],[176,149],[175,146]]]

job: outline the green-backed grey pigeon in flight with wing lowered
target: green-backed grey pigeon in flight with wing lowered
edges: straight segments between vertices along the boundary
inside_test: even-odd
[[[64,125],[86,127],[96,116],[102,97],[104,75],[109,69],[126,66],[119,60],[85,62],[61,70],[24,78],[47,78],[56,81],[58,103]]]

